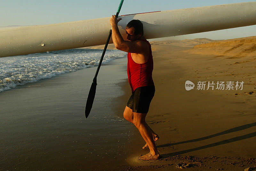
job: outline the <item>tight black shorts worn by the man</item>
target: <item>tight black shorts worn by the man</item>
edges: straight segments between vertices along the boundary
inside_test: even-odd
[[[127,107],[136,113],[148,113],[149,105],[155,94],[155,86],[138,87],[127,102]]]

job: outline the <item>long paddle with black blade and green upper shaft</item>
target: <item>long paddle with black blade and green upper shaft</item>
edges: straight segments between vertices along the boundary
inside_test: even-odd
[[[118,10],[116,12],[116,17],[118,17],[118,14],[121,10],[121,7],[123,5],[123,2],[124,0],[121,0],[120,4],[119,4],[119,7],[118,7]],[[107,50],[107,47],[108,47],[108,42],[110,40],[110,37],[112,35],[112,29],[109,30],[109,35],[108,35],[108,40],[105,44],[105,47],[104,47],[104,50],[102,52],[102,55],[101,55],[101,58],[100,58],[100,63],[98,65],[98,68],[97,68],[97,71],[96,71],[96,74],[93,78],[93,81],[92,81],[92,85],[91,85],[91,89],[89,91],[89,94],[88,94],[88,98],[87,98],[87,101],[86,101],[86,106],[85,106],[85,118],[88,117],[88,115],[90,114],[91,112],[91,109],[92,109],[92,104],[93,104],[93,100],[94,100],[94,97],[95,97],[95,93],[96,93],[96,86],[97,86],[97,76],[98,76],[98,73],[99,73],[99,70],[100,70],[100,66],[101,66],[101,63],[102,63],[102,60],[103,60],[103,57],[105,55],[105,52]]]

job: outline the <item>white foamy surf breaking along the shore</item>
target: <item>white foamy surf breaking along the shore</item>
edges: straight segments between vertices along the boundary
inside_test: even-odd
[[[0,92],[28,82],[97,66],[102,51],[70,49],[0,58]],[[107,50],[102,63],[125,55],[122,51]]]

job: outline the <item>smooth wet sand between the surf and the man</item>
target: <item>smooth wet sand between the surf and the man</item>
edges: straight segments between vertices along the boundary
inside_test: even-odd
[[[84,108],[97,67],[0,93],[0,170],[118,170],[127,167],[131,125],[113,98],[124,94],[125,58],[100,68],[92,111]],[[118,163],[118,165],[116,165]]]

